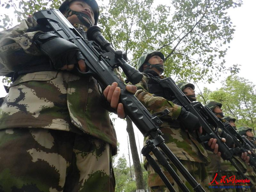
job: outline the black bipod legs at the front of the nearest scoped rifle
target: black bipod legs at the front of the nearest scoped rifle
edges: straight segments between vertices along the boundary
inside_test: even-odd
[[[166,187],[171,192],[175,192],[175,189],[172,187],[172,184],[167,179],[167,177],[164,175],[162,169],[159,167],[159,165],[156,163],[156,161],[153,159],[153,157],[149,154],[151,151],[156,156],[158,162],[161,165],[163,165],[166,168],[166,170],[171,174],[172,178],[176,181],[176,183],[179,185],[181,190],[184,191],[184,192],[189,192],[189,190],[185,186],[185,184],[182,182],[180,177],[177,175],[177,173],[172,169],[171,165],[169,164],[169,162],[167,161],[167,159],[165,158],[163,153],[156,146],[160,147],[164,151],[165,155],[177,167],[177,169],[181,172],[181,174],[185,177],[185,179],[193,187],[194,191],[196,191],[196,192],[205,192],[205,190],[202,188],[202,186],[199,183],[197,183],[197,181],[190,175],[190,173],[180,163],[180,161],[176,158],[176,156],[174,156],[172,151],[165,145],[164,139],[158,133],[155,136],[155,139],[148,140],[146,142],[146,145],[141,150],[141,154],[147,158],[148,163],[152,166],[154,171],[160,176],[160,178],[163,180]]]

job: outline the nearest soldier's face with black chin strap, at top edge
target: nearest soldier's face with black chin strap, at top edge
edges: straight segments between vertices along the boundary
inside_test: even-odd
[[[89,6],[87,3],[85,3],[84,1],[72,1],[69,4],[69,8],[73,11],[82,12],[82,13],[88,15],[92,21],[92,25],[94,25],[94,23],[95,23],[94,13],[92,11],[92,7]],[[71,13],[70,13],[70,15],[71,15]],[[83,17],[83,18],[84,18],[84,20],[89,22],[87,18],[85,18],[85,17]],[[79,24],[83,25],[83,23],[77,18],[76,15],[71,15],[67,19],[70,23],[79,23]]]

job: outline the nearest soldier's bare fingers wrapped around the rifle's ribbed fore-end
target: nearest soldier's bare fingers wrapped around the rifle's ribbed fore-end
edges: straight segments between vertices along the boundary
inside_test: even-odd
[[[126,85],[126,90],[134,94],[137,91],[137,87],[135,85]],[[116,82],[114,82],[112,85],[108,85],[103,91],[103,95],[110,103],[110,106],[116,109],[118,117],[123,119],[126,117],[126,114],[124,112],[123,104],[119,103],[120,93],[121,89],[120,87],[117,87]]]

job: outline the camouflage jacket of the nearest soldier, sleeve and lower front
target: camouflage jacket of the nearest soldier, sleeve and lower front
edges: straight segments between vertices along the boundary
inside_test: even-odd
[[[29,17],[0,32],[1,75],[17,72],[20,66],[16,65],[41,55],[32,43],[39,31],[27,33],[35,25]],[[60,70],[20,75],[9,87],[0,108],[0,129],[43,127],[84,132],[116,147],[116,133],[108,111],[99,102],[100,95],[101,88],[92,76],[80,77]]]

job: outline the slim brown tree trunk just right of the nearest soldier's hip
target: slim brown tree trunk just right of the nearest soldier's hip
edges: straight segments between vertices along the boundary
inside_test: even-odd
[[[133,161],[133,167],[134,167],[135,178],[136,178],[137,192],[145,192],[144,184],[143,184],[143,174],[142,174],[142,169],[140,166],[140,158],[139,158],[139,154],[138,154],[138,150],[137,150],[137,146],[136,146],[132,121],[129,117],[126,117],[126,122],[127,122],[126,130],[128,132],[129,140],[130,140],[130,147],[131,147],[132,161]]]

